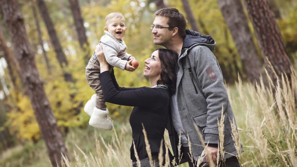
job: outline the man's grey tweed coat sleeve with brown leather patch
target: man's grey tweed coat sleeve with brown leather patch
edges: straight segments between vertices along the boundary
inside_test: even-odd
[[[217,58],[206,46],[197,46],[196,75],[207,103],[207,120],[204,129],[205,143],[219,142],[218,120],[222,107],[225,112],[229,105],[226,87]],[[228,119],[228,118],[225,118]]]

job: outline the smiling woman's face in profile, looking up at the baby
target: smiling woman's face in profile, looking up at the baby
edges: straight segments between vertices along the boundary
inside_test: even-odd
[[[144,62],[145,70],[143,76],[148,77],[150,79],[160,77],[162,69],[158,50],[154,51],[149,58],[144,60]]]

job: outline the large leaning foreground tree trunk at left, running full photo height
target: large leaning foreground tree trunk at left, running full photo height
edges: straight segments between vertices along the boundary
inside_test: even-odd
[[[68,153],[37,71],[24,26],[24,18],[16,0],[0,0],[0,7],[15,46],[16,59],[19,62],[22,75],[25,77],[23,86],[31,100],[49,159],[53,166],[57,166],[57,164],[61,166],[61,153],[67,157]]]

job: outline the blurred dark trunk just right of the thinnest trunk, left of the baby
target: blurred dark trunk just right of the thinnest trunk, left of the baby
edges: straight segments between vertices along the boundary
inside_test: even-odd
[[[57,33],[56,33],[56,30],[54,29],[54,24],[53,24],[52,20],[49,17],[49,12],[47,11],[47,8],[45,6],[45,2],[43,0],[37,0],[37,4],[38,4],[39,10],[40,10],[40,13],[42,15],[42,18],[43,18],[43,20],[45,22],[47,31],[49,33],[49,37],[50,37],[50,39],[52,41],[55,52],[57,54],[58,62],[59,62],[60,66],[61,66],[61,68],[63,70],[64,69],[63,66],[67,67],[68,62],[67,62],[65,54],[63,53],[62,47],[60,45],[60,42],[59,42],[59,39],[58,39],[58,36],[57,36]],[[71,74],[65,72],[64,70],[63,70],[63,74],[64,74],[64,79],[66,81],[74,82],[73,79],[72,79]]]

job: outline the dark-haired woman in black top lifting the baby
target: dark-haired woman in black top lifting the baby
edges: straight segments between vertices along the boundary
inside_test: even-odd
[[[164,142],[164,131],[169,118],[170,97],[175,91],[176,75],[175,64],[177,54],[168,49],[157,49],[145,62],[144,76],[150,80],[150,88],[123,88],[119,87],[114,72],[108,71],[108,63],[102,52],[97,49],[97,58],[100,63],[101,74],[99,79],[102,85],[104,100],[118,105],[134,106],[130,115],[132,139],[141,166],[149,166],[149,158],[145,149],[143,127],[147,132],[154,165],[159,166],[158,154],[161,141]],[[136,165],[133,143],[131,145],[132,165]],[[165,144],[163,143],[165,156]],[[165,160],[165,158],[164,158]]]

